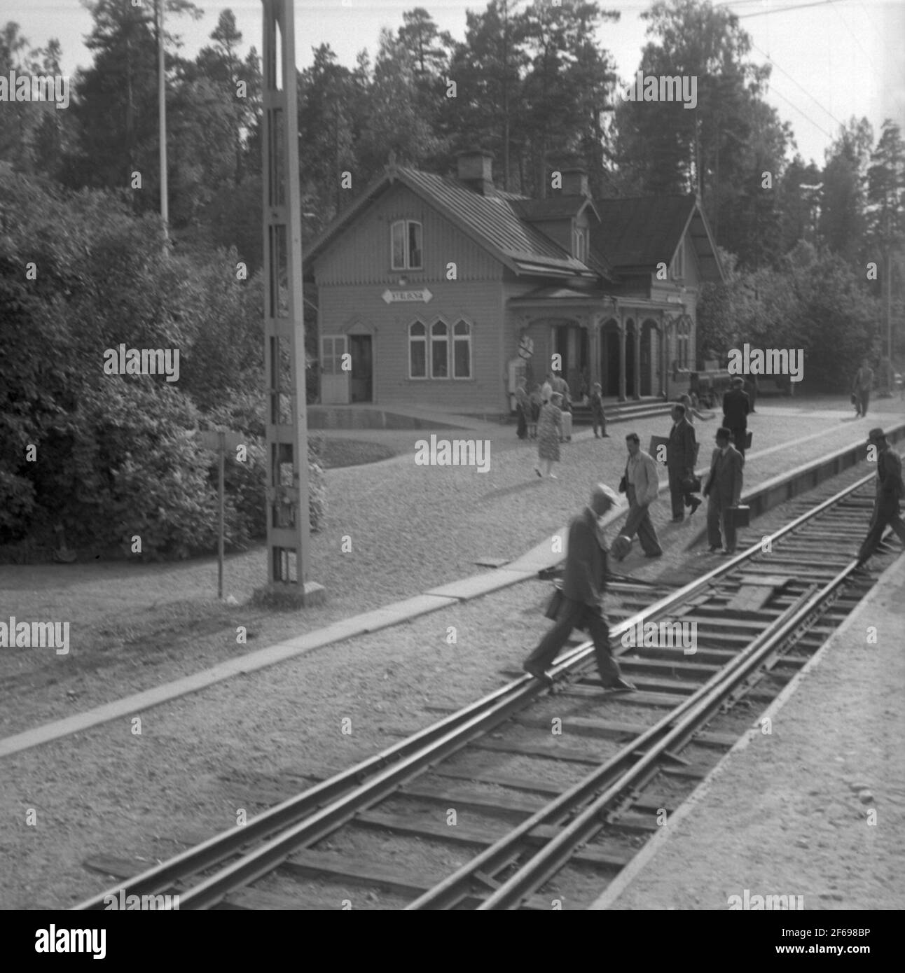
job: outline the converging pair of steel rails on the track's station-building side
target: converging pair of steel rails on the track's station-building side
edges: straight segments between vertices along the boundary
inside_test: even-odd
[[[828,500],[818,504],[811,511],[807,511],[792,523],[775,531],[770,536],[770,540],[773,541],[795,529],[801,523],[818,516],[832,504],[838,502],[840,498],[845,497],[860,486],[864,486],[872,479],[873,474],[852,486],[846,487]],[[639,621],[644,622],[652,617],[664,614],[671,607],[697,595],[698,592],[711,585],[718,578],[729,574],[739,563],[753,557],[761,550],[760,544],[753,545],[747,551],[720,564],[701,578],[665,595],[660,598],[660,601],[642,609],[613,627],[611,636],[618,637],[622,632],[636,626]],[[573,668],[583,668],[592,650],[593,643],[591,641],[584,642],[565,657],[560,657],[556,666],[551,669],[551,673],[555,676]],[[400,741],[393,747],[381,751],[380,754],[359,763],[350,770],[334,775],[302,794],[284,801],[283,804],[269,811],[264,811],[248,821],[247,824],[215,835],[202,845],[190,848],[74,908],[76,910],[102,909],[105,895],[118,894],[124,888],[132,894],[163,892],[183,881],[186,877],[197,875],[206,869],[221,864],[226,858],[238,854],[249,843],[265,840],[276,832],[280,832],[277,837],[266,841],[262,847],[251,850],[238,861],[225,866],[209,879],[180,894],[180,902],[183,907],[208,908],[210,905],[215,905],[232,888],[239,884],[251,882],[276,867],[273,862],[279,864],[290,853],[291,848],[285,849],[291,843],[294,843],[294,847],[298,847],[302,844],[312,844],[319,841],[330,831],[349,820],[357,811],[380,800],[380,797],[374,795],[381,788],[389,787],[387,792],[392,792],[391,781],[398,782],[405,775],[413,775],[419,765],[421,767],[428,766],[434,763],[439,756],[448,755],[455,749],[467,745],[475,735],[483,732],[475,730],[475,727],[483,726],[485,723],[494,725],[495,722],[502,722],[508,717],[510,710],[517,709],[528,698],[537,695],[540,689],[540,685],[531,677],[522,676],[515,682],[495,690],[482,700],[471,703],[462,710],[437,721],[413,737]],[[384,768],[391,763],[395,764],[394,768],[390,772],[385,772]],[[362,782],[362,778],[367,776],[370,776],[371,779]],[[331,799],[332,803],[322,807],[325,802],[330,802]],[[264,867],[265,861],[272,863]],[[248,876],[252,877],[249,878]],[[245,877],[244,881],[239,881],[242,877]],[[221,879],[222,881],[220,881]]]

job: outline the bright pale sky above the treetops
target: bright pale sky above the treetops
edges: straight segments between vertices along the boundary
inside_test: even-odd
[[[822,165],[825,150],[852,116],[866,116],[875,139],[886,118],[905,130],[905,0],[735,0],[715,5],[728,6],[742,18],[752,40],[751,60],[773,63],[767,101],[791,124],[806,162]],[[183,56],[211,43],[210,32],[226,8],[236,16],[244,51],[254,46],[260,54],[260,0],[207,0],[197,6],[205,11],[204,18],[172,18],[168,24],[170,32],[181,36]],[[297,66],[309,65],[312,49],[324,43],[349,67],[362,48],[373,59],[380,28],[396,31],[402,13],[418,6],[461,41],[466,11],[484,10],[486,0],[295,0]],[[622,14],[619,21],[604,23],[598,39],[627,82],[646,43],[646,23],[639,15],[650,3],[602,0],[599,6]],[[91,63],[84,37],[93,21],[79,0],[0,0],[0,24],[8,20],[19,23],[32,47],[57,37],[64,73]]]

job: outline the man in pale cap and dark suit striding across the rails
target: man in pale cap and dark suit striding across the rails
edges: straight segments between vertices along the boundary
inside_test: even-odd
[[[610,630],[600,608],[606,588],[607,550],[597,521],[619,503],[619,497],[609,486],[597,484],[591,490],[590,503],[569,524],[559,616],[524,664],[526,672],[547,685],[552,680],[545,670],[552,665],[572,630],[586,629],[594,640],[597,671],[604,687],[619,692],[631,692],[635,688],[622,678],[619,664],[610,652]]]

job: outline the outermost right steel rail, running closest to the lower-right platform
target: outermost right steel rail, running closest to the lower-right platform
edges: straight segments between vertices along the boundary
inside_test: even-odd
[[[848,566],[843,568],[823,588],[813,592],[810,596],[806,593],[803,598],[795,602],[787,612],[780,616],[782,623],[778,626],[771,626],[774,631],[769,637],[762,640],[763,644],[755,652],[735,667],[735,672],[710,687],[706,697],[701,699],[673,730],[660,739],[651,750],[638,760],[634,767],[619,780],[612,783],[584,811],[581,811],[573,821],[564,827],[554,839],[548,842],[505,883],[500,885],[493,894],[477,907],[478,911],[515,909],[526,895],[543,885],[551,875],[558,872],[571,857],[574,847],[599,829],[600,812],[614,798],[618,797],[626,787],[630,786],[638,776],[642,775],[672,743],[688,734],[696,721],[699,723],[709,719],[709,714],[714,708],[719,707],[725,697],[735,689],[735,685],[746,678],[751,669],[759,666],[763,658],[773,652],[777,643],[787,638],[792,631],[801,627],[805,619],[845,583],[848,575],[854,571],[855,565],[855,560],[850,561]],[[717,675],[720,676],[722,673],[717,673]],[[637,744],[635,748],[637,748]]]

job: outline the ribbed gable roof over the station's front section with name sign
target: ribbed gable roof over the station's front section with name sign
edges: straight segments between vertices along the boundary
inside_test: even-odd
[[[605,257],[600,253],[595,253],[594,259],[589,258],[590,264],[583,264],[547,234],[523,219],[519,207],[525,200],[509,193],[482,196],[458,179],[402,166],[388,168],[348,209],[340,213],[308,247],[303,255],[305,263],[310,267],[362,209],[396,182],[424,199],[516,274],[613,277]],[[576,202],[584,202],[584,198],[575,199]]]

